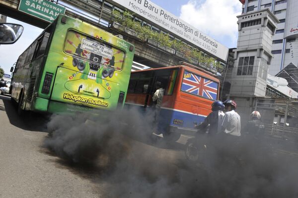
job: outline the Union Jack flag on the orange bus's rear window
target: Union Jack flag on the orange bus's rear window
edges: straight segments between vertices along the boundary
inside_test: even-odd
[[[217,100],[218,83],[194,73],[184,71],[181,90],[212,100]]]

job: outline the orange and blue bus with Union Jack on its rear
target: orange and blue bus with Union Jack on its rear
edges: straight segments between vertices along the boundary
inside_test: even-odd
[[[165,91],[155,133],[170,141],[196,132],[194,122],[203,122],[219,98],[220,81],[212,73],[191,65],[169,66],[133,71],[126,106],[150,108],[157,81]]]

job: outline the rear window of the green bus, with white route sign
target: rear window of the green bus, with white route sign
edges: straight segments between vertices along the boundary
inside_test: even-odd
[[[121,70],[125,57],[124,51],[74,30],[67,33],[64,52],[89,61],[90,68],[94,70],[98,70],[100,66]]]

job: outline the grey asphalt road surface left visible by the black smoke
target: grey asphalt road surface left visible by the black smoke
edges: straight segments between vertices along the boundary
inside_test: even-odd
[[[10,97],[0,96],[0,198],[109,197],[110,184],[101,179],[102,170],[69,163],[44,148],[47,122],[48,117],[40,114],[19,117]],[[169,146],[137,144],[159,153],[175,170],[183,163],[186,139]]]

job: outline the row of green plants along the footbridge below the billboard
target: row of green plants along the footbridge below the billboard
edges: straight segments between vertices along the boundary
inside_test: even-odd
[[[165,47],[173,48],[174,50],[181,52],[189,61],[191,58],[193,58],[198,60],[199,63],[203,63],[207,66],[213,66],[219,69],[222,67],[214,58],[203,54],[197,48],[190,47],[182,41],[171,39],[168,35],[162,32],[152,31],[147,25],[142,26],[140,22],[134,21],[134,14],[130,13],[129,11],[120,13],[118,10],[113,10],[112,21],[120,23],[121,25],[134,30],[137,32],[137,37],[143,41],[152,39]]]

